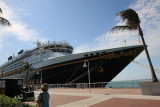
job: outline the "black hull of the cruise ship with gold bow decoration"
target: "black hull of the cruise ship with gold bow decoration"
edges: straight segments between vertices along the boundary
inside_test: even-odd
[[[143,50],[143,46],[116,48],[112,51],[90,54],[79,59],[45,66],[40,68],[42,81],[48,84],[88,83],[88,67],[83,67],[87,60],[91,83],[110,82]],[[30,79],[40,80],[41,74],[36,74]]]

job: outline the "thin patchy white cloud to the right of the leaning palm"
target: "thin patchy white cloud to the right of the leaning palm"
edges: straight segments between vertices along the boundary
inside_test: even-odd
[[[144,31],[144,38],[152,56],[160,55],[160,1],[159,0],[138,0],[131,5],[141,18],[141,26]]]

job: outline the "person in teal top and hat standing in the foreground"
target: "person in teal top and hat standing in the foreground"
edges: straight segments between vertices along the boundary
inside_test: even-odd
[[[42,86],[42,91],[39,95],[38,95],[38,100],[37,100],[37,107],[49,107],[49,98],[50,95],[48,93],[48,84],[44,83]]]

